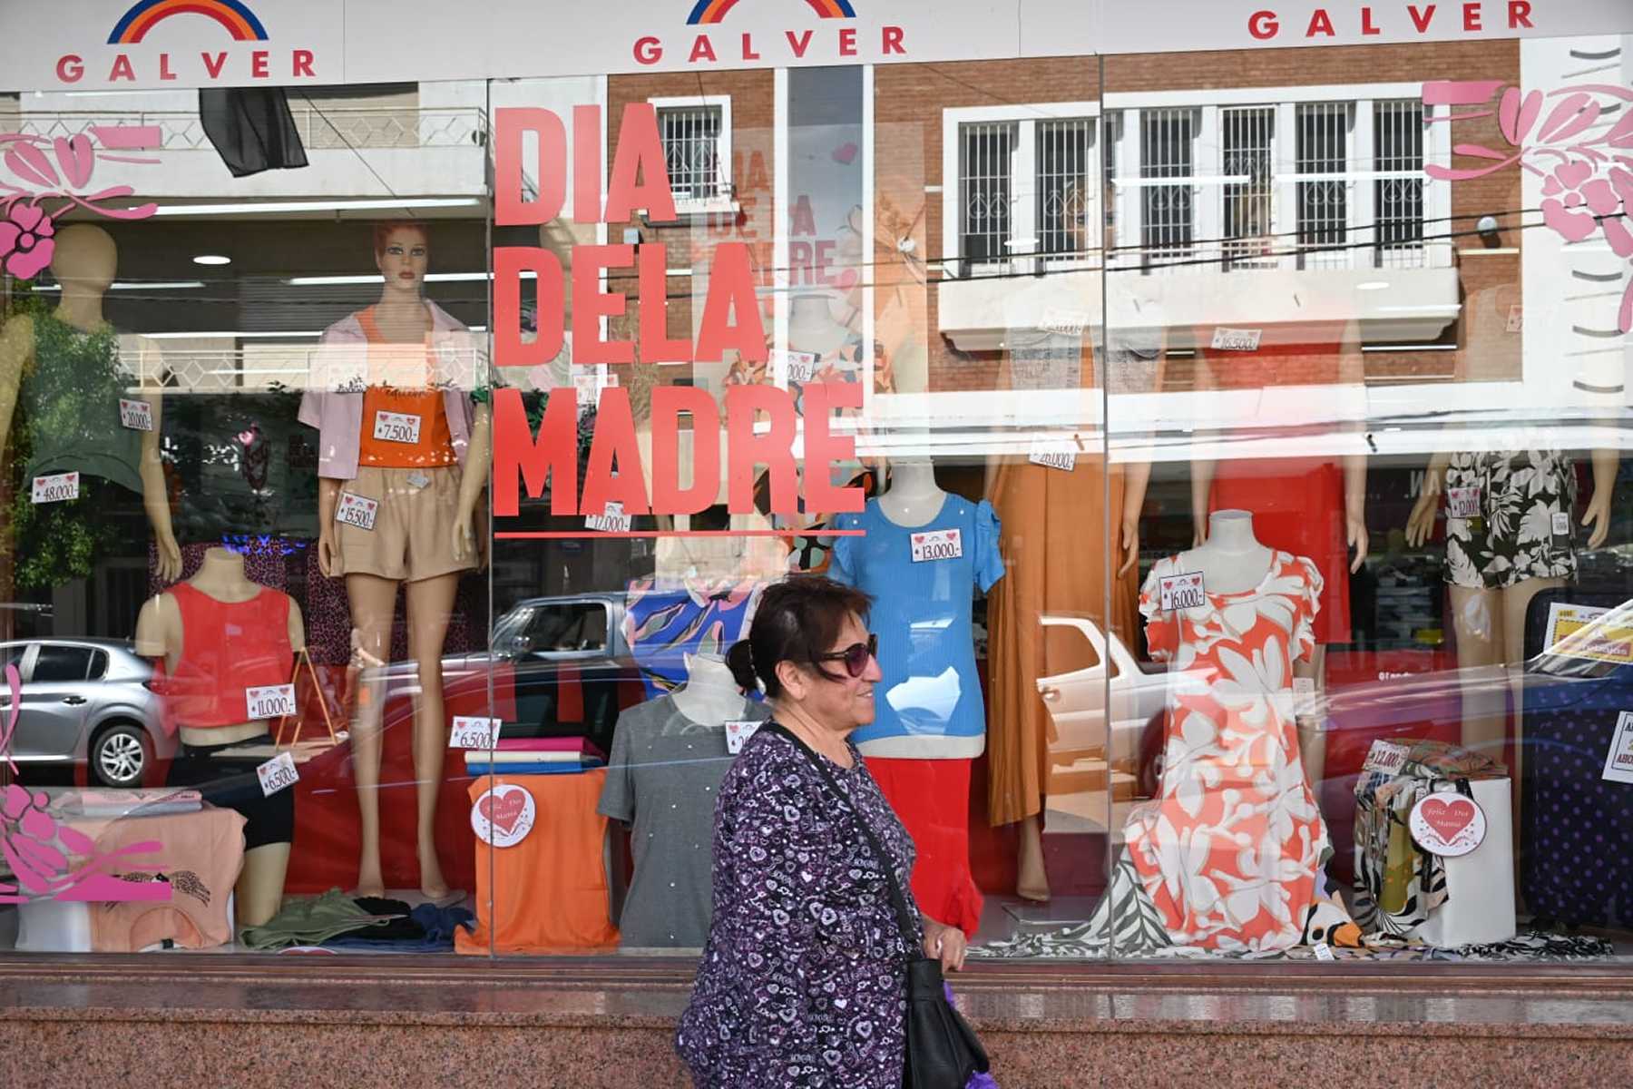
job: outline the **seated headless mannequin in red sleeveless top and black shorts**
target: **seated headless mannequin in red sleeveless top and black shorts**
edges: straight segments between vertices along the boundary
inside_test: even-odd
[[[243,557],[229,549],[209,549],[204,553],[204,562],[198,575],[189,578],[185,586],[202,594],[204,601],[194,596],[188,602],[183,602],[173,588],[150,598],[136,619],[136,653],[163,661],[168,678],[165,686],[171,692],[167,696],[167,709],[180,720],[180,740],[185,749],[178,754],[176,762],[171,764],[170,785],[199,785],[206,800],[242,811],[251,823],[245,828],[245,834],[250,842],[255,842],[261,838],[255,828],[256,823],[268,821],[287,831],[294,813],[292,790],[283,790],[271,798],[260,798],[260,782],[253,774],[253,766],[269,758],[265,746],[258,745],[260,741],[271,741],[268,736],[268,720],[198,727],[188,725],[188,718],[191,717],[189,712],[199,710],[201,691],[204,704],[212,702],[209,694],[214,689],[219,694],[220,704],[230,709],[237,699],[237,692],[245,686],[263,682],[286,684],[292,674],[292,656],[286,661],[256,660],[255,663],[227,660],[242,647],[240,642],[235,642],[238,638],[237,630],[245,624],[253,624],[255,617],[266,616],[258,612],[240,616],[242,611],[232,606],[248,606],[250,602],[261,601],[273,607],[273,616],[283,611],[279,606],[284,606],[287,609],[286,647],[289,651],[305,648],[305,622],[300,617],[300,606],[291,598],[276,589],[251,583],[243,573]],[[185,612],[201,616],[196,611],[198,606],[202,606],[206,616],[220,616],[222,627],[209,632],[188,630]],[[251,632],[251,635],[265,637],[266,632]],[[206,668],[219,666],[222,669],[220,674],[202,674],[198,669],[188,673],[181,669],[185,665],[183,651],[199,647],[201,640],[202,645],[224,642],[227,655],[220,660],[206,658],[206,663],[209,663]],[[194,653],[198,651],[194,650]],[[281,658],[283,655],[279,653],[278,656]],[[204,687],[201,689],[201,686]],[[189,689],[188,694],[181,692],[183,687]],[[247,710],[242,702],[238,704],[238,710]],[[238,756],[232,751],[234,746],[242,746],[243,743],[251,743],[256,753]],[[178,766],[183,761],[194,762],[188,749],[214,749],[202,761],[202,766],[214,764],[219,767],[220,774],[214,782],[180,782],[176,774]],[[247,779],[245,772],[248,772]],[[212,792],[212,785],[217,787],[216,792]],[[269,808],[278,811],[269,816],[266,813]],[[237,919],[240,926],[260,926],[278,914],[287,869],[289,839],[251,846],[245,852],[243,873],[237,883]]]

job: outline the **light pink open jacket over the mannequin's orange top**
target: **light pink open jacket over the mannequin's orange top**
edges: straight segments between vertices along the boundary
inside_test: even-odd
[[[452,313],[426,300],[431,310],[431,348],[438,356],[438,377],[452,382],[444,392],[443,408],[447,413],[447,434],[454,442],[454,456],[462,465],[465,447],[470,446],[470,390],[475,389],[477,338],[465,330]],[[335,372],[361,376],[361,346],[367,344],[363,323],[351,313],[323,330],[318,338],[318,362]],[[328,349],[328,353],[325,353]],[[323,371],[314,366],[315,374]],[[353,392],[340,392],[341,385]],[[300,397],[300,423],[317,428],[317,475],[351,480],[358,475],[358,442],[363,433],[361,382],[335,382],[317,377]]]

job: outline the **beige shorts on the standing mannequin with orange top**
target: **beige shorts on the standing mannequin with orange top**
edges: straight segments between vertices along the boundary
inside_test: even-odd
[[[379,506],[374,511],[374,529],[349,522],[335,526],[340,553],[336,575],[379,575],[400,583],[418,583],[474,568],[475,557],[454,558],[459,477],[461,470],[452,465],[441,469],[359,465],[358,475],[340,487],[340,503],[351,493],[374,500]]]

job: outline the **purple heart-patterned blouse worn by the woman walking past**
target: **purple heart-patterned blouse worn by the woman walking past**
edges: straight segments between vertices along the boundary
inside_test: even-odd
[[[714,919],[674,1038],[699,1089],[901,1086],[906,949],[857,815],[916,918],[913,841],[851,753],[852,767],[830,766],[849,805],[764,728],[720,785]]]

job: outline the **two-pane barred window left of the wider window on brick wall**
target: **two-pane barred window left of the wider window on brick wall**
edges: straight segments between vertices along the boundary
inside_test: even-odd
[[[957,127],[960,276],[1078,264],[1101,247],[1094,118]]]

